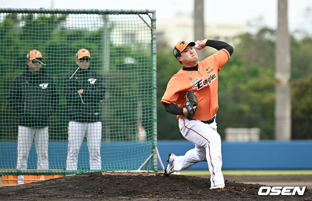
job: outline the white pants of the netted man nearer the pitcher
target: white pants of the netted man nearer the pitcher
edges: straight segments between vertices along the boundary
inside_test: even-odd
[[[90,169],[102,169],[100,153],[102,122],[80,123],[70,121],[68,124],[68,153],[66,159],[66,170],[77,170],[78,154],[85,136],[87,138],[90,155]]]

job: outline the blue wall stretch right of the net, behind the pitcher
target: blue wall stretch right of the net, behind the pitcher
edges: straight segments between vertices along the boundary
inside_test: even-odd
[[[158,140],[158,151],[166,167],[168,153],[184,155],[193,149],[186,140]],[[222,169],[312,169],[312,140],[258,142],[222,141]],[[158,169],[162,169],[158,162]],[[199,162],[189,170],[208,169],[207,162]]]

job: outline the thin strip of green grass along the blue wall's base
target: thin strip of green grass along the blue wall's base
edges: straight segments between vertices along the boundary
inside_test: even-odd
[[[164,171],[158,171],[163,173]],[[207,170],[182,170],[179,171],[182,175],[188,176],[203,176],[210,175]],[[267,175],[312,175],[312,169],[307,170],[222,170],[223,175],[241,176],[267,176]]]

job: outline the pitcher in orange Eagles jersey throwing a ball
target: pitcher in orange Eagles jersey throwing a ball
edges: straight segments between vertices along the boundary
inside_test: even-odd
[[[196,47],[194,47],[196,45]],[[196,50],[209,46],[218,51],[202,61],[197,61]],[[221,171],[221,137],[217,133],[218,72],[230,59],[233,47],[216,40],[179,41],[173,54],[183,68],[173,75],[161,99],[165,111],[177,115],[179,128],[185,139],[195,148],[183,156],[169,153],[165,175],[207,161],[211,174],[210,189],[224,188]]]

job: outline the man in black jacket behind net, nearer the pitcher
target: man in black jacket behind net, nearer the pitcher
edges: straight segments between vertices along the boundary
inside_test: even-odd
[[[76,54],[77,70],[67,74],[64,79],[64,93],[69,111],[66,170],[77,170],[78,154],[85,136],[90,169],[102,169],[100,101],[105,96],[105,81],[102,75],[89,70],[90,60],[90,52],[80,49]]]

